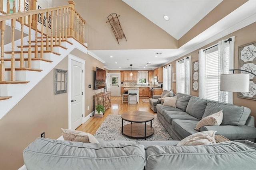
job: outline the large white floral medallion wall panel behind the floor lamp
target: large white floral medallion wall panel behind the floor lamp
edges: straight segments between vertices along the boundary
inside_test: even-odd
[[[238,47],[238,67],[256,74],[256,41]],[[250,74],[249,92],[238,93],[238,98],[256,100],[256,76]]]

